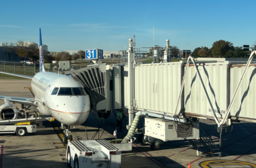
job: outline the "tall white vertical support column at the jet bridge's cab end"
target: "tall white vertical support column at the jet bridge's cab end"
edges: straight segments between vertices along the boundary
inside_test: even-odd
[[[129,81],[129,92],[128,92],[128,114],[129,114],[129,126],[133,123],[133,110],[134,110],[134,52],[133,52],[133,40],[129,39],[128,49],[128,81]]]

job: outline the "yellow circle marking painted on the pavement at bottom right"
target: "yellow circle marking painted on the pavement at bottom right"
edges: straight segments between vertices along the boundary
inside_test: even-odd
[[[233,161],[233,160],[212,160],[212,161],[203,161],[198,164],[202,168],[210,168],[210,167],[218,167],[218,166],[251,166],[255,167],[256,165],[253,163],[245,162],[245,161]]]

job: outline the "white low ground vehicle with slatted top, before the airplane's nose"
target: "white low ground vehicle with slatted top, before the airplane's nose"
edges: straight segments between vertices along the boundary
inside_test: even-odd
[[[106,140],[71,140],[67,143],[66,159],[69,167],[119,168],[121,150]]]

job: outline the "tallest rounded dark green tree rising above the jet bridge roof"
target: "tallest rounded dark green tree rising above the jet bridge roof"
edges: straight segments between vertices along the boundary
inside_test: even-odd
[[[228,42],[225,40],[218,40],[212,44],[212,55],[214,57],[225,57],[226,52],[229,50],[234,50],[234,46],[232,42]]]

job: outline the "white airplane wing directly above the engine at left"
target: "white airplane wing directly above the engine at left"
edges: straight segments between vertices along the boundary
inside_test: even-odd
[[[34,101],[33,98],[26,98],[26,97],[10,97],[6,95],[0,95],[0,99],[6,101],[11,101],[13,103],[22,103],[30,106],[39,106],[39,101]]]

